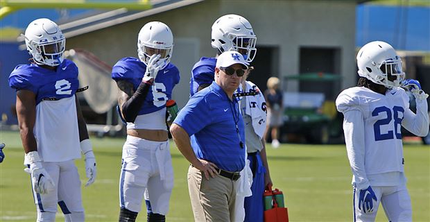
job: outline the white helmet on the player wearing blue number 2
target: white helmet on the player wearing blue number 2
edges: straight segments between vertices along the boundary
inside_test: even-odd
[[[28,53],[37,65],[55,67],[61,64],[66,46],[65,35],[55,22],[36,19],[24,34]]]

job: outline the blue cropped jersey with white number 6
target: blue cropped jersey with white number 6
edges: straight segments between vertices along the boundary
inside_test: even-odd
[[[146,65],[138,58],[121,58],[112,68],[112,78],[115,81],[126,80],[133,84],[136,91],[146,71]],[[172,98],[173,87],[179,83],[179,70],[169,63],[164,69],[158,71],[153,86],[139,110],[139,115],[148,114],[166,107],[166,101]]]

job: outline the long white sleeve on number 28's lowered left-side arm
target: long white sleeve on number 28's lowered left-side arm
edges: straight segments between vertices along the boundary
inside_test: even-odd
[[[349,110],[343,113],[343,131],[345,133],[345,144],[352,173],[356,180],[358,189],[370,186],[365,173],[365,138],[363,113],[359,110]]]

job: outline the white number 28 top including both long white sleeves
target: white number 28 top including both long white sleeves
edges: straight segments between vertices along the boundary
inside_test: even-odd
[[[427,101],[417,103],[416,115],[408,101],[402,88],[388,89],[383,95],[366,87],[352,87],[336,99],[336,108],[344,115],[353,183],[359,189],[368,187],[372,180],[378,185],[398,185],[404,178],[401,126],[417,135],[427,135],[429,130]],[[378,178],[391,181],[384,183]]]

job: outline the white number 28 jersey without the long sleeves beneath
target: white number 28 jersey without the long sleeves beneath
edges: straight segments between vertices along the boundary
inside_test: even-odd
[[[340,112],[359,110],[363,114],[365,172],[368,175],[403,172],[403,145],[400,133],[408,96],[404,89],[385,95],[365,87],[345,89],[336,99]]]

